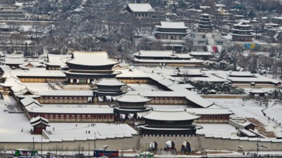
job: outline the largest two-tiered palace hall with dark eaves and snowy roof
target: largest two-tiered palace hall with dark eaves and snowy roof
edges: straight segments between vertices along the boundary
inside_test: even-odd
[[[112,67],[118,62],[110,60],[108,53],[73,52],[72,59],[66,61],[68,71],[65,72],[68,84],[91,84],[102,78],[114,78],[116,74]]]

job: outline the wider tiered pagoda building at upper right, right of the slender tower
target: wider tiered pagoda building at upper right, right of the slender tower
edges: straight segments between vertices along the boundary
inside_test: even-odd
[[[233,41],[252,41],[252,37],[255,34],[252,33],[251,25],[247,25],[245,22],[239,22],[235,24],[232,29]]]

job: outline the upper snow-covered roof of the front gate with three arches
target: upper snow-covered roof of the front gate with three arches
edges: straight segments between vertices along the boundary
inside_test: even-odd
[[[145,119],[159,120],[159,121],[185,121],[191,119],[199,119],[200,116],[190,114],[185,110],[152,110],[150,112],[137,113],[139,117]]]

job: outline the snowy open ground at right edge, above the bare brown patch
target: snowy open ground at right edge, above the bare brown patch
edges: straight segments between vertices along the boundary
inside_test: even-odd
[[[254,100],[243,101],[242,99],[207,99],[211,102],[216,103],[220,107],[228,108],[234,114],[231,117],[247,117],[255,118],[264,124],[266,131],[272,131],[276,136],[282,136],[282,127],[277,126],[274,121],[269,121],[268,117],[264,117],[262,110],[266,108],[265,105],[260,106],[259,103],[256,103]],[[282,108],[280,104],[269,105],[269,109],[266,109],[266,116],[275,118],[278,122],[282,123]],[[274,112],[275,111],[275,112]]]

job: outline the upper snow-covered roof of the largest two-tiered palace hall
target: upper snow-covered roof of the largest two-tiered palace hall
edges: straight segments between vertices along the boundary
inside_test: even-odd
[[[118,62],[109,60],[108,53],[106,51],[100,52],[78,52],[73,53],[73,59],[68,60],[67,64],[74,65],[87,65],[87,66],[103,66],[103,65],[115,65]]]

